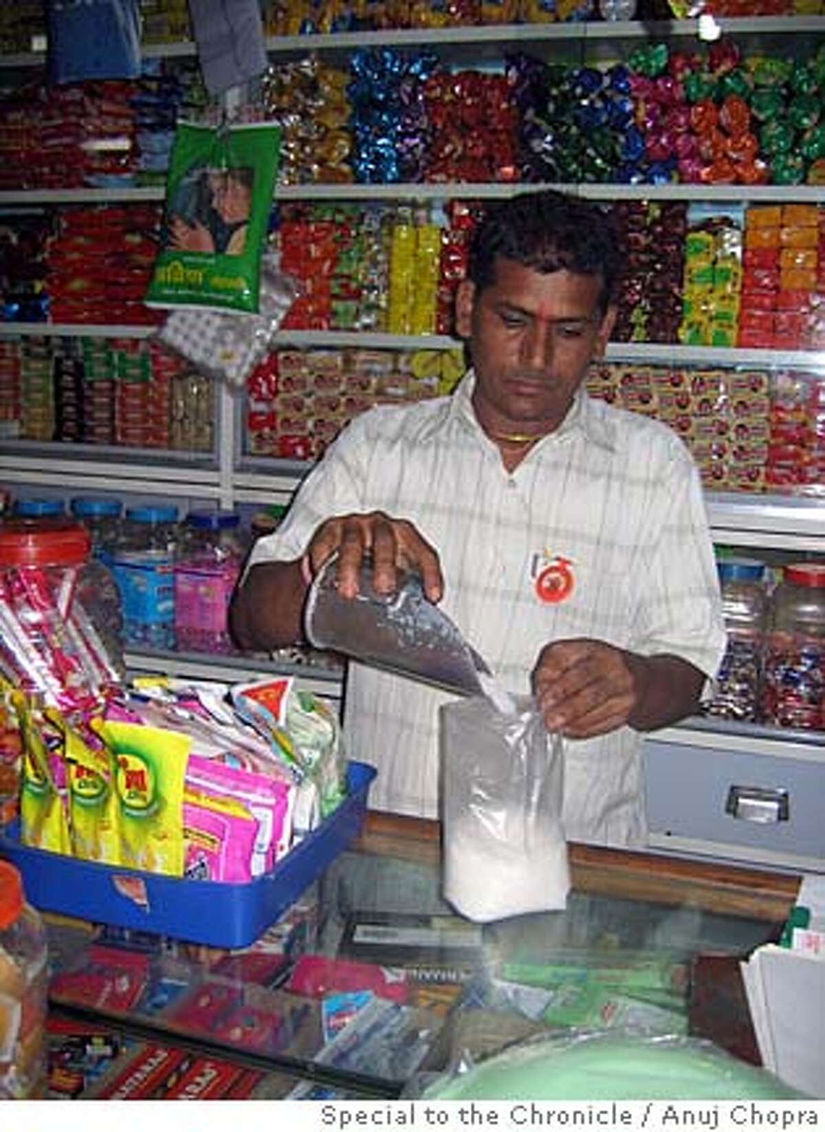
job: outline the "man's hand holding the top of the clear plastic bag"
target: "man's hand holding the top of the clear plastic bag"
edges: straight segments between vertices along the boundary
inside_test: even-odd
[[[533,669],[533,693],[548,730],[590,739],[627,723],[639,698],[637,659],[604,641],[545,645]]]

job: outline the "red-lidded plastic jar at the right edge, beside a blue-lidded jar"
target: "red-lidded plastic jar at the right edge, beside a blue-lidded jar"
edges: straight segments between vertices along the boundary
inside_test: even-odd
[[[773,592],[762,713],[777,727],[825,730],[825,563],[792,563]]]

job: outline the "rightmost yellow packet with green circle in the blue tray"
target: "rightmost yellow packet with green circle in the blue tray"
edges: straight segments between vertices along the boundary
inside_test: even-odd
[[[120,807],[121,864],[183,875],[183,778],[188,735],[136,723],[96,720],[114,760]]]

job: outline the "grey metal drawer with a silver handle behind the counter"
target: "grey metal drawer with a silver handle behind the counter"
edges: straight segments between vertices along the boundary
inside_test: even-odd
[[[753,730],[645,738],[648,844],[825,872],[825,741]]]

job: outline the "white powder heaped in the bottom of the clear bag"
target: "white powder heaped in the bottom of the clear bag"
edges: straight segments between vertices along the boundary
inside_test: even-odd
[[[505,814],[500,827],[523,826],[523,814]],[[518,841],[524,843],[514,844],[512,837],[502,841],[483,815],[476,817],[470,811],[449,821],[444,844],[445,899],[479,923],[565,908],[570,873],[559,824],[547,821]]]

